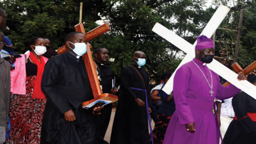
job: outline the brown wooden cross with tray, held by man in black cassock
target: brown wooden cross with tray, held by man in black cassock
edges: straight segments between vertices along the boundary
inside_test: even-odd
[[[79,31],[79,32],[85,34],[86,40],[87,40],[87,42],[89,42],[93,38],[96,38],[96,37],[106,33],[107,31],[109,31],[110,27],[109,27],[109,24],[106,22],[105,24],[89,31],[88,33],[85,33],[83,23],[78,23],[75,26],[75,29],[76,29],[76,31]],[[87,43],[86,46],[89,47],[89,44]],[[65,53],[67,51],[66,46],[64,45],[64,46],[60,47],[57,51],[58,51],[58,54]],[[97,75],[95,67],[94,67],[94,62],[92,59],[91,51],[87,50],[87,52],[83,55],[83,58],[84,58],[84,63],[85,63],[88,77],[89,77],[89,81],[90,81],[90,85],[92,88],[92,93],[93,93],[94,99],[92,99],[90,101],[83,102],[82,107],[84,108],[85,106],[87,106],[90,103],[97,101],[97,100],[109,100],[112,102],[116,102],[118,100],[116,95],[109,94],[109,93],[102,94],[102,91],[100,89],[98,75]]]

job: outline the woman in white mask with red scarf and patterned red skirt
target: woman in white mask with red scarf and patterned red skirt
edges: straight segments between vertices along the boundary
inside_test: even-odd
[[[7,143],[40,143],[45,95],[41,79],[47,58],[43,38],[35,37],[28,43],[27,54],[15,61],[11,71],[11,132]]]

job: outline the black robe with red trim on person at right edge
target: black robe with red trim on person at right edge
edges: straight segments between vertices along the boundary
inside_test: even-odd
[[[237,119],[229,124],[223,142],[225,144],[256,143],[256,122],[247,116],[247,112],[256,113],[256,100],[245,92],[240,92],[233,98],[232,105]]]

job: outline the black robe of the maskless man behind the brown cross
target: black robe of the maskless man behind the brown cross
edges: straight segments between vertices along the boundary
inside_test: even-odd
[[[114,78],[113,70],[107,65],[102,65],[101,63],[95,61],[98,67],[98,72],[101,77],[100,85],[102,86],[102,93],[111,93],[112,89],[112,79]],[[106,105],[101,110],[100,115],[93,115],[95,119],[96,131],[101,139],[104,139],[105,134],[108,129],[108,124],[110,121],[112,111],[112,105]]]

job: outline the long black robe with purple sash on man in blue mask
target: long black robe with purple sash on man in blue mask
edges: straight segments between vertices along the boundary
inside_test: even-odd
[[[150,97],[149,75],[143,68],[136,67],[145,79],[146,87],[137,71],[131,66],[121,71],[121,86],[118,92],[118,102],[111,133],[110,144],[148,144],[148,117],[146,108],[146,93],[130,89],[147,90],[148,106],[153,107]],[[145,106],[138,106],[134,98],[145,102]]]

